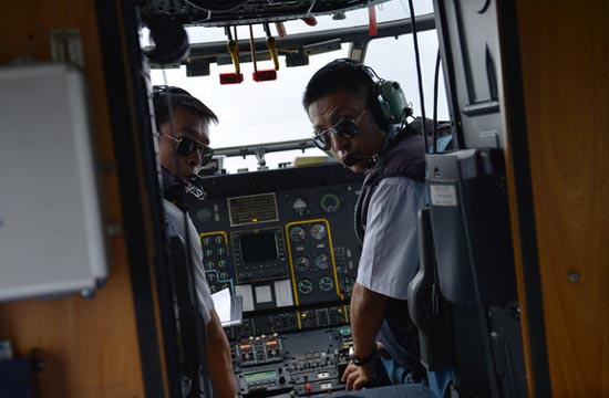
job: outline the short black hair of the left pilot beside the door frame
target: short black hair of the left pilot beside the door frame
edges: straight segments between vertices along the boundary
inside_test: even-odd
[[[156,128],[169,122],[169,105],[173,109],[183,107],[192,111],[207,123],[218,123],[218,116],[186,90],[175,86],[154,86],[153,106]]]

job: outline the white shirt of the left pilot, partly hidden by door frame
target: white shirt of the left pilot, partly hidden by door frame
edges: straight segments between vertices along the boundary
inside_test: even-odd
[[[184,212],[174,203],[168,200],[163,200],[165,208],[165,218],[167,221],[167,235],[179,235],[184,238]],[[205,269],[203,268],[203,248],[200,245],[197,230],[190,220],[190,216],[186,213],[186,223],[188,229],[188,239],[190,239],[190,261],[194,266],[193,275],[195,277],[195,291],[199,302],[199,311],[203,315],[205,324],[211,318],[210,313],[214,310],[214,301],[211,298],[211,292],[205,277]]]

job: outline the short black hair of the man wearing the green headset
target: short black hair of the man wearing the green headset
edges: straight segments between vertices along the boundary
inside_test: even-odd
[[[365,88],[365,102],[371,106],[373,86],[374,82],[364,65],[350,59],[334,60],[313,74],[304,88],[302,105],[308,112],[312,103],[326,95],[340,90],[359,94]]]

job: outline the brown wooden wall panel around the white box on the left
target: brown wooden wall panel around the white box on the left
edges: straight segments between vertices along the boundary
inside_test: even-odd
[[[94,127],[93,146],[107,224],[122,224],[122,209],[110,130],[106,87],[94,1],[10,1],[0,24],[0,63],[17,57],[50,61],[49,33],[79,29]],[[35,109],[32,109],[35,117]],[[25,154],[24,154],[25,155]],[[52,165],[41,165],[41,175]],[[33,176],[34,177],[34,176]],[[58,226],[61,233],[61,226]],[[24,242],[25,243],[25,242]],[[143,397],[124,237],[110,237],[109,282],[91,300],[72,295],[0,304],[0,338],[10,339],[19,356],[40,350],[42,397]],[[2,264],[10,266],[10,264]]]

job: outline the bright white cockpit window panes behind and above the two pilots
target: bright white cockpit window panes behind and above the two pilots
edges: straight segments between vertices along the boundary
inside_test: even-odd
[[[415,1],[417,15],[433,12],[431,0]],[[375,6],[379,23],[409,17],[405,1],[391,1]],[[313,33],[331,29],[365,27],[369,23],[369,10],[360,9],[348,11],[344,19],[333,19],[332,15],[317,17],[317,25],[310,27],[302,20],[285,22],[288,36],[299,33]],[[336,17],[334,17],[336,18]],[[339,17],[340,18],[340,17]],[[227,38],[224,28],[187,28],[190,43],[223,42]],[[276,34],[271,24],[271,33]],[[264,38],[261,25],[254,25],[254,35]],[[238,27],[239,42],[249,40],[249,28]],[[425,111],[427,117],[433,112],[433,78],[437,54],[437,35],[435,30],[421,32],[419,35],[423,84],[425,87]],[[254,144],[280,143],[298,139],[310,139],[311,123],[302,107],[302,92],[312,74],[328,62],[349,55],[351,44],[343,43],[340,50],[323,52],[309,56],[309,64],[304,66],[287,67],[286,57],[279,57],[277,80],[255,82],[252,80],[254,65],[251,62],[241,63],[244,82],[240,84],[220,85],[220,73],[235,72],[233,64],[210,64],[210,74],[207,76],[187,77],[186,67],[153,69],[151,72],[154,85],[167,84],[186,88],[194,96],[208,105],[219,118],[219,124],[210,129],[211,146],[215,149],[247,146]],[[229,62],[229,59],[228,59]],[[419,90],[416,82],[416,66],[412,35],[401,35],[398,39],[374,39],[368,43],[364,63],[385,80],[398,81],[409,102],[414,106],[414,115],[421,115]],[[272,61],[258,61],[258,70],[270,70]],[[438,118],[447,118],[447,106],[442,74],[440,76]],[[267,166],[276,168],[281,163],[290,163],[296,156],[324,156],[317,148],[288,153],[267,154]],[[255,156],[246,159],[236,157],[225,160],[225,168],[236,172],[239,168],[255,170]]]

